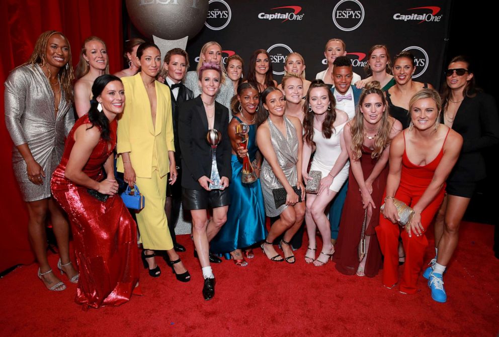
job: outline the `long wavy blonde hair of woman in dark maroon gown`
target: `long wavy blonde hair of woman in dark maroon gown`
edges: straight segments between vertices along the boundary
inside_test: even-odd
[[[359,159],[362,156],[362,147],[364,146],[364,115],[361,113],[361,106],[367,95],[376,94],[380,96],[383,105],[385,106],[385,111],[381,116],[381,123],[379,125],[378,132],[374,138],[374,150],[371,153],[371,158],[379,158],[383,150],[390,144],[390,131],[393,126],[393,119],[390,118],[390,113],[388,111],[388,104],[386,103],[386,98],[383,91],[380,89],[380,83],[378,81],[368,82],[365,89],[359,97],[359,104],[355,108],[355,117],[351,122],[350,132],[352,134],[352,155],[354,159]]]

